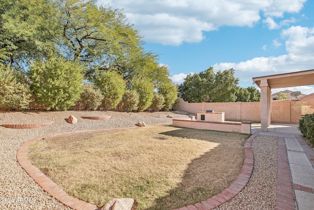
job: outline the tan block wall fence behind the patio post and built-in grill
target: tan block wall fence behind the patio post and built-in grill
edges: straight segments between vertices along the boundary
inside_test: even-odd
[[[261,121],[261,102],[189,103],[180,99],[180,110],[196,115],[214,110],[224,112],[226,120]],[[314,113],[314,101],[271,101],[271,122],[299,123],[302,115]]]

